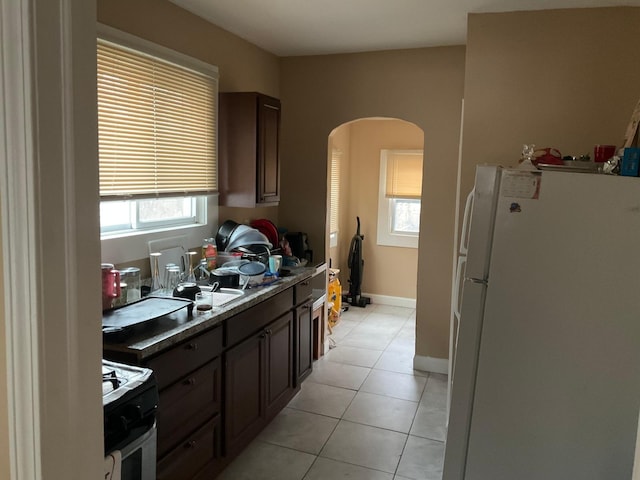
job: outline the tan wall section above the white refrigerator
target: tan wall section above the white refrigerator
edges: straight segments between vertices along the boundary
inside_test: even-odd
[[[470,15],[462,198],[477,164],[514,165],[524,143],[620,145],[640,96],[638,25],[639,8]]]

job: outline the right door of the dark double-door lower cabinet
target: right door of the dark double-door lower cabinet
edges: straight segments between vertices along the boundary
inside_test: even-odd
[[[266,328],[267,379],[266,417],[274,417],[286,406],[294,392],[293,385],[293,314],[287,313]]]

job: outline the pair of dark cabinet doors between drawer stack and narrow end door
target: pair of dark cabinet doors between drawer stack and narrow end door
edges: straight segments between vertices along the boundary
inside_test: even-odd
[[[289,312],[225,354],[225,456],[242,450],[294,391]]]

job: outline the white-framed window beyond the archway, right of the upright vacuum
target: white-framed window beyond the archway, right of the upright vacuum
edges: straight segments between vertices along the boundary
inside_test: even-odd
[[[422,150],[382,150],[378,245],[418,248]]]

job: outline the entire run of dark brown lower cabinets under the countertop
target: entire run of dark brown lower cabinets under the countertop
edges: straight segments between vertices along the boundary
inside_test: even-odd
[[[293,398],[313,362],[310,288],[300,282],[142,361],[105,352],[155,373],[158,480],[212,480]]]

